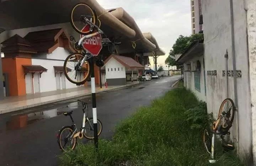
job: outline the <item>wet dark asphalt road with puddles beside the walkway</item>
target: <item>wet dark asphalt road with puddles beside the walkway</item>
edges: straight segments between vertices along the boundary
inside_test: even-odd
[[[97,117],[103,124],[100,138],[110,139],[118,122],[131,115],[137,107],[149,105],[151,100],[171,90],[171,84],[178,78],[180,76],[164,77],[130,88],[98,93]],[[89,103],[89,112],[90,99],[82,99]],[[80,127],[81,105],[74,99],[0,115],[0,165],[58,165],[57,155],[61,151],[56,135],[62,126],[71,125],[70,118],[62,115],[69,110],[74,110],[73,118]]]

